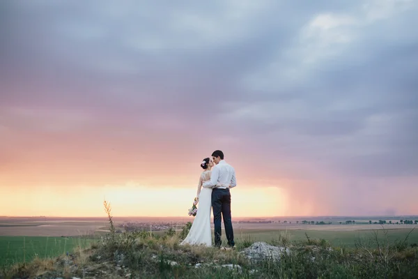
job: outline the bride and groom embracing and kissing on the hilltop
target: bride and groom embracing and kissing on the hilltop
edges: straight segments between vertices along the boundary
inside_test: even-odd
[[[215,225],[215,246],[221,247],[221,222],[224,218],[224,227],[228,246],[233,248],[233,228],[231,220],[231,193],[230,189],[237,185],[235,169],[225,162],[224,153],[216,150],[212,158],[205,158],[201,163],[203,172],[197,186],[196,204],[199,210],[189,234],[181,243],[190,245],[212,246],[210,232],[210,207],[213,209],[213,223]]]

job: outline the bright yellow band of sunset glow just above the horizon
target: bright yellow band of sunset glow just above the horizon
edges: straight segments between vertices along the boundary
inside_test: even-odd
[[[196,189],[145,187],[134,183],[102,188],[78,187],[69,190],[28,188],[25,195],[13,189],[0,196],[1,215],[6,216],[105,216],[102,202],[111,203],[114,216],[187,216]],[[282,216],[287,212],[286,193],[281,188],[234,188],[231,209],[235,217]]]

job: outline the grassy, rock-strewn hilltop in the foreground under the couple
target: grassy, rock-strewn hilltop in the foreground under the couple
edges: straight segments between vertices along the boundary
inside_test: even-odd
[[[376,237],[343,248],[309,236],[295,243],[280,234],[271,246],[247,238],[238,241],[235,250],[219,250],[180,246],[189,227],[178,233],[168,229],[162,235],[116,234],[110,223],[111,233],[90,247],[9,266],[0,278],[416,278],[418,274],[418,248],[407,239],[380,243]]]

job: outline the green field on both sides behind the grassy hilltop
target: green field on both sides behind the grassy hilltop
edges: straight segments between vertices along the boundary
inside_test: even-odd
[[[359,241],[367,243],[369,240],[376,239],[381,243],[386,241],[403,241],[411,229],[389,229],[385,236],[384,230],[353,230],[353,231],[326,231],[311,229],[237,229],[235,230],[235,241],[265,241],[272,243],[285,237],[289,241],[307,241],[310,239],[325,239],[332,246],[355,247]],[[163,234],[163,232],[160,232]],[[224,237],[223,237],[224,239]],[[46,236],[0,236],[0,266],[13,264],[16,262],[29,262],[34,257],[54,257],[72,252],[75,248],[86,247],[95,239],[86,237],[46,237]],[[418,229],[408,236],[408,243],[418,244]],[[226,241],[224,241],[226,243]],[[373,245],[373,243],[371,243]]]

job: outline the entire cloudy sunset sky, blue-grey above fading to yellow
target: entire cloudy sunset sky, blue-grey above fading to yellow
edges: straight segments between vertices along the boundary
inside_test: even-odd
[[[0,1],[0,215],[418,214],[418,1]]]

